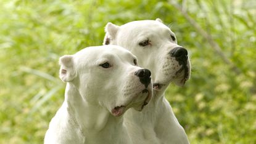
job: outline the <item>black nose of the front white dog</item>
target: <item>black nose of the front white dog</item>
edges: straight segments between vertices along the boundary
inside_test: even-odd
[[[147,86],[149,86],[149,83],[151,82],[151,71],[147,69],[139,69],[138,71],[135,71],[134,73],[136,76],[139,77],[139,81]]]

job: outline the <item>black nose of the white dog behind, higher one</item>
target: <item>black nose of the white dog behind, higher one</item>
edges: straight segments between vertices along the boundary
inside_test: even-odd
[[[188,59],[188,51],[183,47],[175,47],[170,51],[171,57],[175,57],[176,60],[187,60]]]

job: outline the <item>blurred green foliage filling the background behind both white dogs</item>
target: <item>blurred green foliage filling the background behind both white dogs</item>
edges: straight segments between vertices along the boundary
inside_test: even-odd
[[[189,50],[191,79],[171,84],[166,96],[191,143],[256,143],[255,7],[254,0],[0,1],[0,143],[43,143],[64,100],[61,55],[101,45],[107,22],[157,17]]]

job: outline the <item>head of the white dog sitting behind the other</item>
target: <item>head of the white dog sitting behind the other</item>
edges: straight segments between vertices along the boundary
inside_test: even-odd
[[[170,82],[183,86],[189,79],[188,52],[177,44],[175,33],[162,20],[141,20],[122,26],[107,23],[104,44],[116,44],[138,57],[139,65],[152,72],[154,90],[163,91]]]

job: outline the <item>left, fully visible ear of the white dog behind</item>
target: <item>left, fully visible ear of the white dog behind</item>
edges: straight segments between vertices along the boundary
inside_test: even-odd
[[[117,35],[117,31],[120,26],[114,25],[113,23],[107,23],[105,26],[105,37],[103,41],[103,45],[109,45],[111,44],[111,41],[115,39],[115,36]]]

